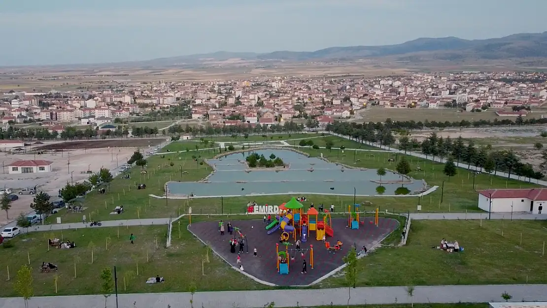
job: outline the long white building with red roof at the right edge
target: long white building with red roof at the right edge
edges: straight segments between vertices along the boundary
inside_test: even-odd
[[[492,213],[539,214],[547,206],[547,188],[478,190],[479,208]],[[547,212],[542,211],[541,214]]]

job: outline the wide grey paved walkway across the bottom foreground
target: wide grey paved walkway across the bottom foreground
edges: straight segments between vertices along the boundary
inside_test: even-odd
[[[154,288],[154,286],[150,286]],[[547,284],[509,284],[487,286],[416,287],[411,299],[406,287],[357,288],[351,291],[350,305],[414,303],[484,303],[503,301],[501,295],[513,295],[513,301],[547,301]],[[119,308],[190,307],[189,293],[147,293],[119,295]],[[203,308],[259,308],[271,301],[276,307],[347,305],[348,289],[265,290],[235,292],[198,292],[194,307]],[[108,307],[115,307],[115,297],[107,299]],[[135,305],[133,305],[135,303]],[[20,298],[0,299],[0,308],[24,307]],[[30,300],[32,308],[102,308],[102,295],[66,297],[38,297]]]

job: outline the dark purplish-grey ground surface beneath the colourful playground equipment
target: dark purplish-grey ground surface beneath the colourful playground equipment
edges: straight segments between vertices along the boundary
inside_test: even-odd
[[[365,223],[359,225],[358,230],[348,228],[347,218],[333,218],[334,237],[327,237],[327,241],[334,246],[337,240],[344,243],[341,251],[330,253],[322,241],[317,241],[315,231],[311,231],[309,239],[301,243],[300,248],[306,249],[313,245],[313,269],[310,266],[310,252],[305,252],[307,262],[307,274],[300,274],[302,270],[302,257],[299,252],[289,251],[289,274],[280,275],[276,269],[276,243],[280,240],[281,231],[268,235],[262,220],[231,220],[232,226],[241,229],[241,233],[247,236],[248,247],[241,254],[243,268],[247,274],[257,277],[259,280],[274,283],[277,286],[304,286],[327,275],[329,272],[344,264],[342,258],[347,253],[348,247],[357,245],[358,251],[365,246],[370,248],[381,241],[389,233],[397,229],[399,222],[391,218],[379,218],[378,226],[371,224],[374,218],[365,218]],[[224,220],[225,223],[228,220]],[[253,226],[254,228],[251,228]],[[237,253],[230,253],[230,235],[226,231],[220,235],[218,222],[198,222],[188,228],[203,242],[210,243],[211,248],[230,263],[236,266]],[[235,234],[235,233],[234,233]],[[236,235],[237,237],[237,235]],[[295,248],[294,241],[290,248]],[[253,257],[253,248],[257,248],[258,256]],[[248,248],[248,253],[247,252]],[[238,247],[236,248],[237,251]],[[285,249],[280,245],[280,250]],[[290,258],[293,258],[291,260]]]

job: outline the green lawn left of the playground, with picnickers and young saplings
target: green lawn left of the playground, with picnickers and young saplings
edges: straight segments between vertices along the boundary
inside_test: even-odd
[[[8,266],[11,278],[10,281],[3,283],[0,296],[16,296],[13,290],[15,275],[20,266],[28,264],[28,258],[33,270],[35,296],[100,294],[100,272],[106,267],[113,266],[117,268],[120,293],[187,292],[190,284],[195,284],[202,291],[264,288],[229,268],[211,252],[207,252],[207,248],[194,239],[185,225],[181,226],[180,230],[179,232],[178,228],[173,228],[170,248],[165,248],[167,225],[89,228],[63,230],[62,233],[44,231],[18,236],[13,240],[14,247],[0,247],[0,256],[3,257],[0,280],[7,281]],[[136,236],[134,245],[129,242],[131,233]],[[77,247],[51,248],[48,251],[49,237],[74,241]],[[59,266],[59,272],[55,273],[59,277],[57,293],[56,275],[39,271],[43,261]],[[202,261],[205,261],[205,275],[202,275]],[[148,277],[156,275],[165,277],[166,282],[152,286],[144,283]],[[226,283],[227,281],[229,283]]]

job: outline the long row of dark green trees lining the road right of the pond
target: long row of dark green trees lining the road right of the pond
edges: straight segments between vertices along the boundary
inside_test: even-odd
[[[350,136],[350,138],[366,143],[380,143],[380,146],[392,146],[397,143],[393,136],[393,131],[389,125],[378,125],[375,123],[340,123],[335,122],[327,127],[328,130],[339,133],[341,135]],[[461,136],[456,140],[450,137],[439,137],[437,133],[424,139],[422,142],[416,138],[403,136],[399,138],[397,147],[400,150],[419,151],[422,154],[432,156],[432,159],[440,158],[443,162],[445,158],[452,158],[459,162],[468,164],[468,168],[474,165],[480,170],[486,172],[497,171],[511,173],[525,178],[541,179],[543,173],[535,171],[531,164],[523,163],[518,156],[510,150],[492,150],[490,146],[476,147],[473,141],[465,141]],[[547,152],[545,152],[545,160],[547,161]],[[547,167],[547,164],[545,164]]]

